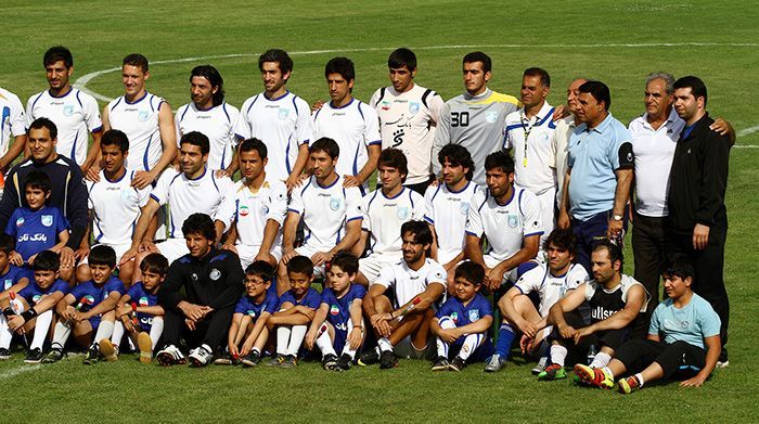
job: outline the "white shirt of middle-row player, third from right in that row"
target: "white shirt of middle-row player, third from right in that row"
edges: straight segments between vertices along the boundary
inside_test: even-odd
[[[371,233],[370,253],[400,257],[400,227],[406,221],[424,219],[424,197],[406,187],[391,198],[382,189],[363,196],[361,229]]]

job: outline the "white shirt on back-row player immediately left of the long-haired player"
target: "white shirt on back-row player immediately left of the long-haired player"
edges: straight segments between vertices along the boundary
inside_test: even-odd
[[[129,156],[125,162],[129,170],[151,170],[160,160],[164,143],[160,140],[158,112],[164,99],[145,91],[145,95],[132,103],[121,95],[108,103],[108,123],[112,129],[127,134]]]

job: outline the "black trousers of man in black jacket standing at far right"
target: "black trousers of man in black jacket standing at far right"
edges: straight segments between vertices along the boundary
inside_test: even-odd
[[[693,248],[693,234],[670,233],[669,254],[671,257],[686,256],[693,264],[696,277],[693,279],[693,292],[705,298],[720,317],[720,341],[728,343],[728,323],[730,321],[730,303],[724,287],[724,242],[728,226],[715,226],[709,230],[709,243],[703,250]]]

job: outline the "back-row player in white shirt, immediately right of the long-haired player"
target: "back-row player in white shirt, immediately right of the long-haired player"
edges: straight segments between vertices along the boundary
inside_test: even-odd
[[[267,50],[258,57],[258,68],[263,92],[243,103],[234,133],[239,140],[261,140],[269,151],[269,174],[293,190],[308,162],[312,138],[310,108],[285,87],[293,72],[287,52]]]

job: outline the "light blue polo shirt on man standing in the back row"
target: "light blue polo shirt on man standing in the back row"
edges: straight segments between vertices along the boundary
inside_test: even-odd
[[[567,163],[571,168],[569,179],[569,213],[575,219],[586,221],[594,215],[614,207],[617,190],[615,169],[620,167],[619,150],[631,143],[627,127],[609,113],[595,128],[588,130],[580,124],[569,136]],[[632,167],[632,150],[623,160]]]

